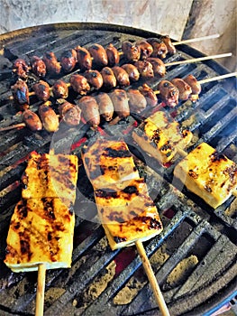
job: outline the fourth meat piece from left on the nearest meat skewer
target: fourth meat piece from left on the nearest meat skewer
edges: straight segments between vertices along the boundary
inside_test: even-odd
[[[96,98],[86,96],[79,100],[78,106],[81,108],[81,113],[88,125],[94,128],[100,124],[99,106]]]

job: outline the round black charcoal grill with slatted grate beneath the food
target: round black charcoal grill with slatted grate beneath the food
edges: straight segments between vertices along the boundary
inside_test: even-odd
[[[87,47],[96,42],[103,46],[112,42],[121,48],[124,40],[133,42],[148,37],[160,35],[101,23],[58,23],[1,35],[0,126],[20,121],[12,101],[8,99],[14,81],[11,67],[16,58],[29,61],[33,54],[42,56],[46,50],[54,51],[59,57],[67,48],[77,45]],[[165,62],[202,56],[199,51],[180,45],[177,53]],[[183,78],[192,73],[199,80],[227,72],[214,60],[206,60],[169,67],[165,79]],[[63,78],[68,81],[69,76]],[[54,80],[46,79],[50,83]],[[156,88],[159,81],[155,78],[147,80],[147,83],[151,88]],[[132,86],[135,88],[139,85],[141,81]],[[202,88],[196,103],[186,101],[179,103],[175,109],[165,110],[194,133],[195,142],[187,151],[205,141],[236,162],[236,79],[206,83]],[[37,99],[32,98],[33,110],[39,104]],[[140,172],[149,177],[150,196],[161,209],[164,230],[144,246],[171,315],[210,315],[225,302],[235,302],[236,199],[232,197],[213,210],[185,188],[180,191],[179,183],[173,179],[174,164],[164,168],[154,163],[137,150],[131,133],[124,133],[140,119],[141,116],[130,116],[111,128],[104,125],[101,130],[123,136]],[[67,142],[68,134],[64,132],[56,141],[58,151]],[[80,140],[83,138],[87,141],[93,134],[87,125],[71,131],[72,152],[79,156]],[[0,137],[0,314],[30,316],[35,308],[37,275],[13,274],[5,267],[5,239],[14,205],[21,197],[20,179],[26,158],[32,150],[48,152],[52,135],[45,131],[33,134],[23,128],[2,133]],[[72,267],[47,271],[45,315],[159,315],[135,248],[110,250],[104,229],[95,219],[92,188],[83,168],[79,172],[77,187]],[[155,189],[157,187],[160,188],[159,192]],[[196,256],[196,265],[177,283],[170,283],[172,270],[190,256]]]

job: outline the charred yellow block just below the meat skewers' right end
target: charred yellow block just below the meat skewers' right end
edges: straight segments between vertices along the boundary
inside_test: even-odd
[[[132,138],[141,149],[161,164],[169,163],[192,139],[192,133],[181,129],[178,122],[169,119],[164,111],[146,118],[132,132]]]

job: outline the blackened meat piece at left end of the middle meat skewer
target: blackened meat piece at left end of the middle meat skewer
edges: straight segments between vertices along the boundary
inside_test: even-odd
[[[25,81],[18,79],[14,86],[11,87],[14,96],[14,101],[20,110],[29,108],[30,98],[29,98],[29,88]]]

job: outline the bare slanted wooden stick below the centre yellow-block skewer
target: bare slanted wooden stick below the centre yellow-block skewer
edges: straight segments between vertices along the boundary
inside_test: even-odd
[[[145,249],[144,249],[140,240],[136,241],[135,244],[136,244],[138,253],[141,257],[141,262],[142,262],[143,268],[144,268],[144,270],[148,276],[148,279],[150,281],[150,286],[151,286],[152,291],[155,295],[156,302],[158,303],[158,306],[160,308],[161,315],[162,316],[169,316],[168,307],[167,307],[166,302],[164,300],[163,294],[160,291],[160,286],[157,282],[156,276],[152,271],[150,261],[146,255]]]

